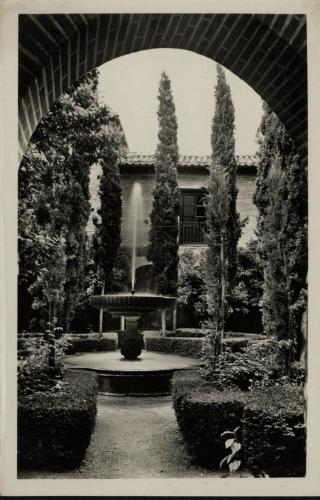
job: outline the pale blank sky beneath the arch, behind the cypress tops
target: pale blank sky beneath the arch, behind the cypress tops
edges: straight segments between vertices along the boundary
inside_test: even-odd
[[[152,154],[158,142],[158,89],[162,71],[171,80],[180,154],[211,152],[216,63],[194,52],[152,49],[122,56],[99,67],[100,98],[116,112],[129,150]],[[243,80],[225,70],[235,107],[236,154],[257,151],[262,100]]]

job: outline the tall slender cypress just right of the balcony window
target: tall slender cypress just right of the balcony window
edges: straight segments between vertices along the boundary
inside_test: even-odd
[[[224,319],[237,270],[237,244],[241,235],[236,211],[236,159],[234,106],[230,87],[217,65],[215,113],[212,120],[212,165],[207,199],[207,296],[208,312],[215,327]],[[226,302],[226,304],[225,304]]]

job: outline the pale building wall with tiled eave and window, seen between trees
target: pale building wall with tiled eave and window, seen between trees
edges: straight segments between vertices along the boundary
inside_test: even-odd
[[[131,196],[133,186],[139,183],[142,193],[142,215],[138,222],[137,259],[136,267],[147,265],[147,247],[150,231],[150,213],[152,209],[155,186],[154,155],[128,153],[119,165],[122,189],[122,246],[130,253],[132,246],[133,214]],[[253,236],[256,226],[257,209],[253,203],[256,178],[255,156],[245,155],[237,157],[237,210],[240,217],[246,218],[239,245],[244,246]],[[192,248],[199,252],[205,247],[203,229],[205,210],[203,205],[207,182],[209,179],[210,156],[181,155],[178,164],[178,186],[181,190],[181,213],[179,218],[179,251]],[[94,165],[90,174],[91,218],[88,233],[92,234],[94,226],[92,217],[99,209],[99,183],[101,167]]]

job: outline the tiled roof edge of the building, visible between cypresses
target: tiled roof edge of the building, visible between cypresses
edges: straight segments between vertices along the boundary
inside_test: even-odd
[[[257,157],[255,155],[236,156],[238,167],[256,167]],[[153,166],[155,155],[144,155],[140,153],[127,153],[122,158],[121,166]],[[179,167],[204,167],[208,168],[211,163],[210,155],[180,155]]]

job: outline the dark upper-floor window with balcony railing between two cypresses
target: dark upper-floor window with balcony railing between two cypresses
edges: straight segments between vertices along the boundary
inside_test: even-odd
[[[203,243],[205,190],[181,191],[180,243]]]

